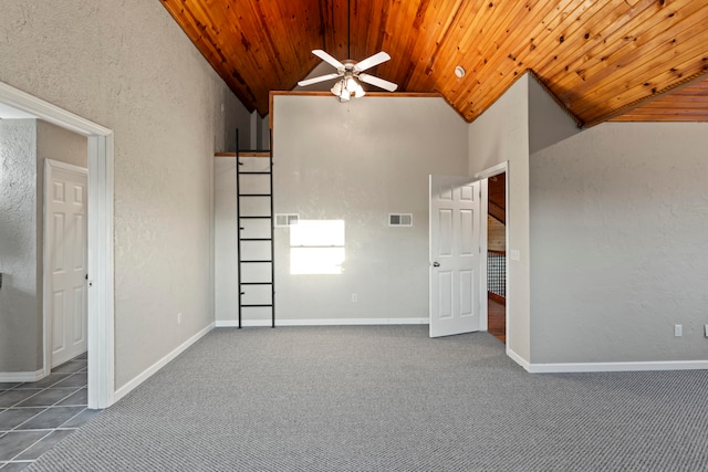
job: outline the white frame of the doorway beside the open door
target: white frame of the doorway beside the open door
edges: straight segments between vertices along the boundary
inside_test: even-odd
[[[494,177],[498,176],[500,174],[504,174],[504,178],[506,178],[506,186],[504,186],[504,200],[507,203],[506,207],[506,213],[507,213],[507,231],[506,231],[506,247],[507,247],[507,255],[504,256],[506,261],[504,261],[504,271],[506,271],[506,276],[507,276],[507,310],[504,311],[504,316],[506,316],[506,335],[507,335],[507,352],[509,350],[509,346],[510,346],[510,332],[511,329],[509,329],[509,313],[511,311],[511,284],[509,283],[509,232],[510,232],[510,228],[509,228],[509,222],[510,222],[510,218],[509,218],[509,161],[504,160],[503,162],[499,162],[496,166],[489,167],[480,172],[475,174],[475,177],[478,179],[482,180],[482,198],[481,198],[481,203],[482,203],[482,210],[481,213],[482,216],[487,216],[487,212],[489,211],[489,187],[488,187],[488,179],[490,177]],[[487,287],[487,248],[488,248],[488,241],[487,241],[487,218],[482,218],[481,219],[481,228],[480,231],[482,232],[482,234],[480,235],[480,242],[481,242],[481,251],[482,251],[482,258],[480,259],[482,266],[481,272],[480,272],[480,276],[481,276],[481,290],[482,293],[486,294],[488,292],[488,287]],[[485,308],[483,308],[483,329],[487,331],[489,328],[488,326],[488,310],[487,310],[487,304],[483,304]]]

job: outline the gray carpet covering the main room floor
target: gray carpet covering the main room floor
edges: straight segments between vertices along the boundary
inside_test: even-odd
[[[706,471],[708,371],[530,375],[486,333],[216,329],[28,471]]]

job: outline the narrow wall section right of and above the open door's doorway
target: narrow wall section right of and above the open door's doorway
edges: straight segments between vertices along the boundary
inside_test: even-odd
[[[509,161],[508,251],[520,251],[507,268],[508,347],[530,357],[529,322],[529,76],[519,78],[469,125],[469,171]]]

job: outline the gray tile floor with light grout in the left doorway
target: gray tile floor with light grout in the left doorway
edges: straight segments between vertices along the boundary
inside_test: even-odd
[[[86,409],[86,355],[34,382],[0,382],[0,471],[21,471],[97,410]]]

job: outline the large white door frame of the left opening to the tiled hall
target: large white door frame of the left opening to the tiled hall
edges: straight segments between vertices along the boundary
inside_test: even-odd
[[[0,103],[88,139],[88,408],[106,408],[115,399],[113,130],[3,82]]]

